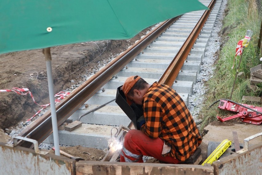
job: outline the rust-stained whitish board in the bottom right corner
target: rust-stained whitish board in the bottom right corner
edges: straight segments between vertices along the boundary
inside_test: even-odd
[[[222,174],[261,174],[262,142],[249,146],[242,154],[234,153],[212,163],[215,175]]]

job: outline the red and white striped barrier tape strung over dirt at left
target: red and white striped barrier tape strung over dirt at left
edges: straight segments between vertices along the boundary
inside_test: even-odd
[[[28,92],[26,92],[28,91]],[[33,99],[34,103],[35,104],[38,104],[36,103],[36,101],[34,100],[34,97],[33,97],[33,94],[32,92],[29,91],[29,89],[27,88],[13,88],[13,90],[9,90],[9,89],[0,89],[0,92],[15,92],[17,94],[20,94],[20,95],[27,95],[27,94],[30,94],[31,98]],[[24,93],[26,92],[26,93]],[[68,96],[70,94],[70,92],[58,92],[57,94],[54,95],[54,97],[58,97],[56,100],[55,100],[55,103],[58,103],[60,102],[62,99],[64,99],[66,96]],[[43,107],[42,109],[40,109],[37,113],[35,113],[34,116],[32,116],[30,119],[28,119],[27,121],[30,121],[32,120],[37,114],[39,114],[44,108],[46,108],[47,106],[50,105],[49,104],[45,104],[45,105],[40,105],[38,104],[39,106]]]

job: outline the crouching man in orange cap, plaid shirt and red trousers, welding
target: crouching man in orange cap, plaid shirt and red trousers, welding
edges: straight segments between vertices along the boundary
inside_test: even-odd
[[[130,76],[122,90],[129,105],[143,105],[137,130],[125,136],[121,162],[143,162],[143,156],[171,164],[182,163],[200,145],[202,138],[185,102],[175,90],[157,81],[152,85],[140,76]],[[140,129],[140,130],[139,130]]]

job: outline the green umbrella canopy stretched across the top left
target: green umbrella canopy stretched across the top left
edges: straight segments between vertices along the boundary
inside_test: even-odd
[[[207,9],[197,0],[5,0],[0,53],[129,39],[158,22]]]

